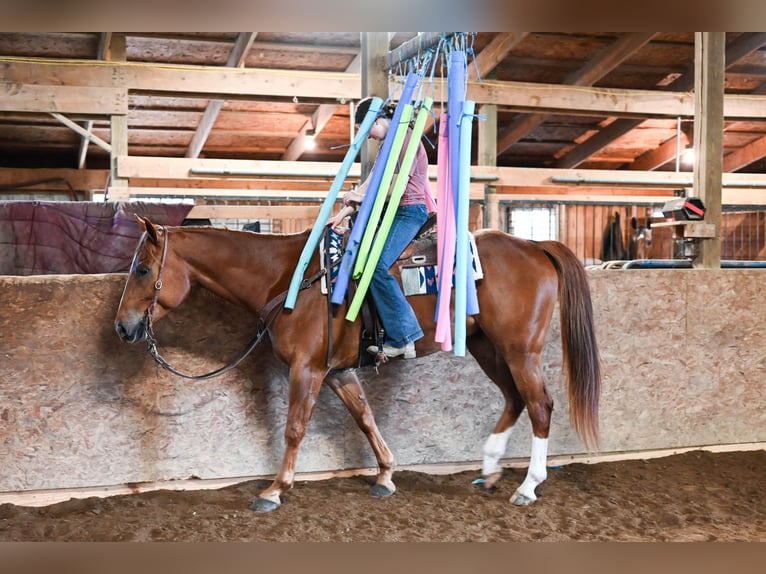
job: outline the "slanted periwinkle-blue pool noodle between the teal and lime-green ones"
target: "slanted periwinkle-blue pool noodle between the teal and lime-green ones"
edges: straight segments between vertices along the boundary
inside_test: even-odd
[[[412,92],[415,90],[417,83],[418,75],[410,72],[407,75],[407,80],[405,81],[404,88],[402,89],[402,94],[399,98],[399,104],[396,106],[394,115],[391,118],[392,125],[399,125],[399,118],[401,117],[404,104],[410,103],[410,100],[412,99]],[[383,158],[383,160],[388,158],[389,152],[391,151],[391,147],[394,143],[395,135],[396,133],[394,130],[388,130],[386,137],[383,138],[383,145],[378,152],[378,158]],[[348,282],[351,279],[351,272],[354,268],[354,261],[356,260],[358,253],[357,249],[359,247],[359,242],[361,240],[362,234],[364,233],[367,219],[370,216],[370,210],[372,209],[372,205],[375,202],[375,192],[377,192],[377,188],[380,185],[380,179],[383,176],[383,170],[386,167],[385,164],[385,161],[375,162],[375,165],[372,168],[372,173],[370,174],[367,193],[365,194],[364,199],[359,206],[359,211],[357,211],[354,226],[349,232],[349,237],[346,241],[346,249],[343,252],[343,257],[341,258],[340,266],[338,267],[338,273],[335,279],[335,285],[333,286],[332,297],[330,299],[335,305],[340,305],[346,298]]]

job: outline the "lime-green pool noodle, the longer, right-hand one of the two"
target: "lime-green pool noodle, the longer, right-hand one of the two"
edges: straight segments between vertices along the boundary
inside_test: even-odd
[[[407,150],[404,153],[402,165],[399,168],[399,172],[401,174],[409,174],[410,170],[412,169],[412,164],[415,161],[415,156],[420,146],[420,138],[423,135],[423,129],[426,126],[426,120],[430,114],[432,104],[433,100],[431,98],[425,98],[425,100],[423,100],[423,104],[420,106],[420,110],[418,110],[418,116],[415,120],[415,125],[412,128],[410,142],[407,146]],[[426,174],[426,177],[428,177],[428,174]],[[383,246],[386,243],[388,232],[391,229],[391,224],[394,221],[396,210],[399,208],[399,201],[401,200],[402,195],[404,195],[404,190],[407,187],[408,180],[409,177],[397,178],[394,189],[391,191],[391,199],[388,202],[386,212],[383,214],[383,219],[380,222],[380,228],[375,234],[375,240],[373,241],[372,248],[370,249],[367,265],[364,267],[364,272],[362,273],[362,277],[359,280],[359,285],[357,285],[356,293],[354,293],[354,298],[352,299],[348,308],[348,312],[346,313],[346,319],[349,321],[354,321],[356,319],[357,315],[359,314],[359,309],[362,307],[362,301],[364,301],[364,297],[367,294],[370,282],[372,281],[372,275],[375,272],[375,267],[380,260],[380,254],[383,251]]]

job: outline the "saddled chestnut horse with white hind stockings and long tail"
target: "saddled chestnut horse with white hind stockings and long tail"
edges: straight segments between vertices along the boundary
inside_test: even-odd
[[[256,512],[281,504],[293,485],[298,446],[323,383],[340,398],[375,453],[378,474],[372,496],[394,493],[394,457],[378,430],[357,378],[360,321],[345,319],[346,304],[336,309],[332,328],[320,282],[302,290],[294,309],[273,312],[287,290],[309,231],[259,234],[203,227],[162,227],[139,219],[144,229],[125,283],[115,329],[128,342],[147,339],[151,322],[180,305],[194,285],[256,314],[274,317],[268,334],[273,352],[290,367],[285,453],[274,481],[252,503]],[[466,345],[487,376],[500,388],[505,407],[483,447],[482,475],[491,488],[500,477],[500,459],[510,431],[526,407],[532,422],[532,452],[523,483],[511,497],[515,505],[537,498],[546,477],[548,431],[553,400],[545,387],[541,352],[554,306],[560,306],[564,368],[570,418],[586,446],[598,440],[601,371],[586,272],[562,243],[534,242],[495,230],[475,234],[484,277],[477,284],[480,314],[467,318]],[[392,268],[395,270],[396,265]],[[307,276],[319,271],[315,255]],[[409,299],[425,337],[418,356],[440,350],[434,342],[435,295]],[[328,359],[328,333],[332,353]]]

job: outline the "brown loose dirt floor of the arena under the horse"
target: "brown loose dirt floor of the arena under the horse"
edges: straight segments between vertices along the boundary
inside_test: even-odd
[[[0,505],[1,541],[522,542],[766,541],[766,451],[694,451],[649,460],[552,467],[538,501],[508,498],[525,469],[495,492],[477,471],[399,471],[397,493],[374,499],[371,477],[298,482],[277,511],[249,504],[268,482]]]

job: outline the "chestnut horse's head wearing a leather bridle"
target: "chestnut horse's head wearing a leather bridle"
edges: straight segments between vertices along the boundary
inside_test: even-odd
[[[129,343],[147,339],[152,322],[180,305],[191,288],[188,272],[169,246],[167,228],[136,219],[143,233],[114,320],[117,334]]]

